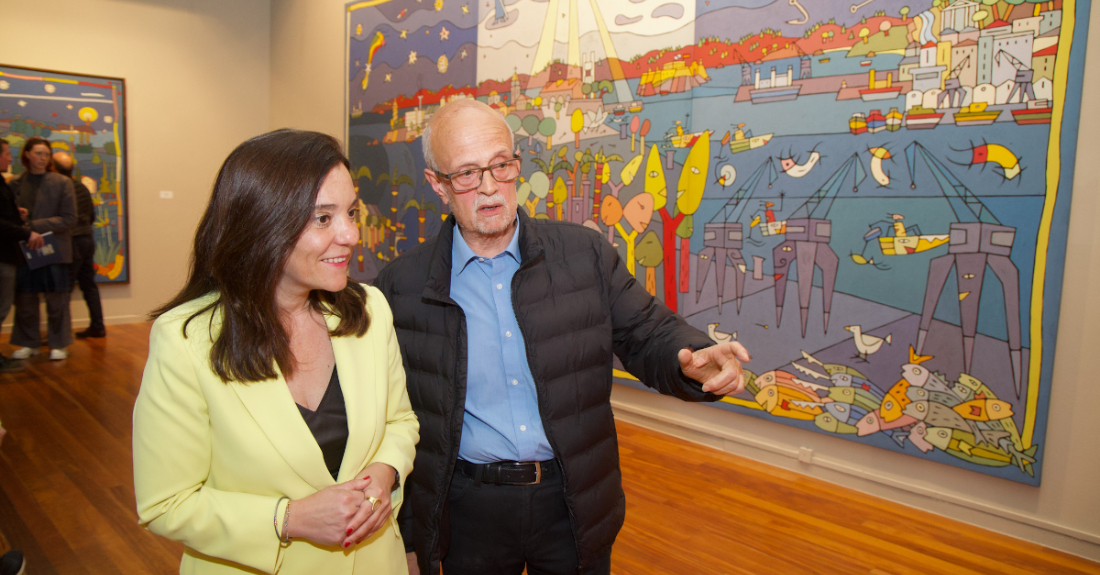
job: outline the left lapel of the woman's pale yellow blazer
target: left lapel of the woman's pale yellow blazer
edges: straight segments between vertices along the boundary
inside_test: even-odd
[[[283,460],[315,489],[336,485],[324,465],[324,455],[290,397],[286,380],[230,384],[245,409]]]

